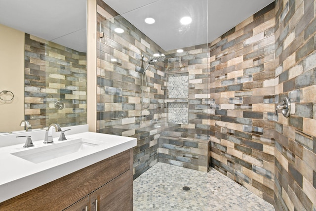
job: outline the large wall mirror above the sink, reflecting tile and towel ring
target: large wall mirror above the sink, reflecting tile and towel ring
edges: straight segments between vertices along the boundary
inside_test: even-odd
[[[0,135],[86,124],[86,0],[1,0],[0,32]]]

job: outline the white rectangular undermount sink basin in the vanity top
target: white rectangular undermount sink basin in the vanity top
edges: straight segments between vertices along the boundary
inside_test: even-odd
[[[97,140],[78,138],[61,143],[54,142],[52,144],[47,144],[46,146],[42,146],[39,148],[11,153],[11,155],[38,164],[72,153],[82,152],[103,143],[104,142]]]

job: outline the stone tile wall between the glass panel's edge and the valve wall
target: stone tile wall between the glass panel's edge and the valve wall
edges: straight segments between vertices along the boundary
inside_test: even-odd
[[[273,204],[275,6],[210,43],[211,165]]]

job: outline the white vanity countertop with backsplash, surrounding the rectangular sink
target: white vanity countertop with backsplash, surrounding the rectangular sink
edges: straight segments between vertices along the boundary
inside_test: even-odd
[[[75,127],[67,128],[72,128],[72,133],[78,132],[78,128],[76,130]],[[62,130],[67,128],[62,128]],[[58,141],[57,139],[60,132],[53,132],[54,143],[50,145],[65,143],[77,138],[98,140],[104,142],[104,144],[37,164],[14,156],[11,153],[47,146],[47,144],[43,143],[45,131],[41,130],[40,132],[34,131],[18,134],[32,136],[35,146],[30,148],[23,148],[26,139],[16,138],[15,136],[17,136],[17,134],[9,135],[11,137],[0,136],[0,142],[3,141],[3,143],[5,143],[2,143],[2,147],[0,147],[0,202],[107,159],[137,144],[136,138],[88,132],[87,127],[82,128],[82,126],[79,127],[79,131],[80,130],[86,131],[76,134],[71,134],[70,131],[67,131],[69,134],[67,132],[65,133],[68,139],[66,141]],[[35,137],[34,139],[33,135]],[[14,145],[8,145],[8,140],[10,139],[14,139],[14,141],[11,141]],[[18,144],[15,142],[16,139],[19,139],[19,141],[17,141],[19,142]]]

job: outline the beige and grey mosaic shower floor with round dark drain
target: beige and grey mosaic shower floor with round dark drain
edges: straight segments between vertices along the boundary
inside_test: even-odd
[[[164,163],[134,180],[133,198],[134,211],[274,211],[271,204],[215,169],[206,173]]]

